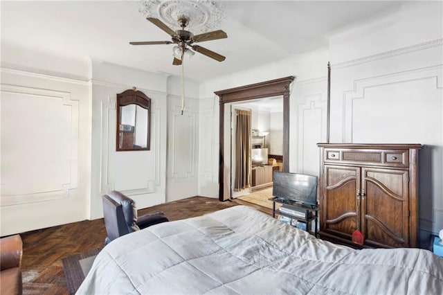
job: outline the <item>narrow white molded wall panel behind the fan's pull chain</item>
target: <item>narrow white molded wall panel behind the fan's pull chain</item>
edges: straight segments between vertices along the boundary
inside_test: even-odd
[[[171,96],[172,97],[172,96]],[[197,133],[197,114],[192,108],[187,107],[181,114],[181,106],[174,105],[170,111],[170,152],[172,154],[170,163],[170,176],[173,182],[186,181],[195,177],[197,154],[197,143],[195,142]],[[188,140],[183,140],[183,136]],[[188,144],[188,147],[183,146]],[[188,157],[183,157],[184,152],[188,152]]]

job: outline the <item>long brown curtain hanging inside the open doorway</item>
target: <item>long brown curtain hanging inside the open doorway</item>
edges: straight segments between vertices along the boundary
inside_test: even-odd
[[[236,109],[234,190],[251,186],[251,111]]]

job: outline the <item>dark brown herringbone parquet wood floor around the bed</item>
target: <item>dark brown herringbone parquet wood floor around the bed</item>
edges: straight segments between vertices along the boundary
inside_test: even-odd
[[[207,197],[190,197],[138,211],[138,215],[163,211],[170,221],[196,217],[213,211],[244,204],[271,214],[264,208],[235,199],[219,202]],[[106,238],[103,219],[84,220],[48,229],[21,233],[23,240],[23,293],[69,294],[66,289],[62,258],[102,247]]]

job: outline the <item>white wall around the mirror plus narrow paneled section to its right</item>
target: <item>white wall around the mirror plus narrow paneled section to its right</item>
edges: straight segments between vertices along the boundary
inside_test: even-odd
[[[93,189],[91,218],[102,217],[101,195],[120,190],[146,208],[198,194],[198,87],[163,74],[93,62]],[[116,93],[136,87],[151,98],[151,149],[116,152]]]

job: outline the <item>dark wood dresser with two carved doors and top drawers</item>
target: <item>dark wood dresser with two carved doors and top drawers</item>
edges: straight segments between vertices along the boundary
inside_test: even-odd
[[[352,247],[416,247],[420,144],[318,143],[320,238]],[[359,229],[363,244],[352,242]]]

